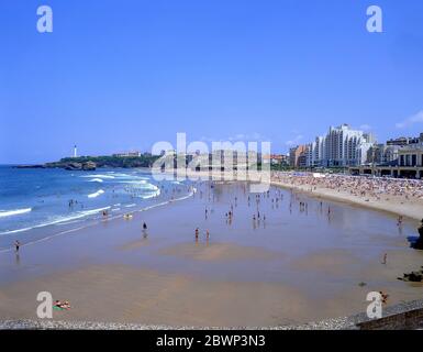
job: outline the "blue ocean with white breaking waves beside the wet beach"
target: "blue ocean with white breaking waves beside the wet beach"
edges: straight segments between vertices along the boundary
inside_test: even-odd
[[[0,251],[69,232],[103,218],[163,206],[192,191],[146,169],[69,172],[0,166]]]

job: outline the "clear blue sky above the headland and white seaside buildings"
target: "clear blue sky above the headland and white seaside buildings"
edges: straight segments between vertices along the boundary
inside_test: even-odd
[[[366,31],[370,4],[382,34]],[[343,122],[379,141],[423,132],[422,0],[1,1],[0,45],[0,164],[177,132],[272,152]]]

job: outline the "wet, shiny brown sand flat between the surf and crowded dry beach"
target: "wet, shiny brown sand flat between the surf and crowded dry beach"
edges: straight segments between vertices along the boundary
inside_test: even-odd
[[[259,201],[244,184],[197,187],[194,197],[132,220],[23,246],[19,257],[2,253],[0,317],[35,319],[42,290],[71,302],[55,311],[58,320],[198,327],[347,316],[366,310],[370,290],[388,293],[389,305],[423,296],[423,285],[397,279],[423,263],[407,241],[412,219],[399,229],[394,216],[275,187]]]

